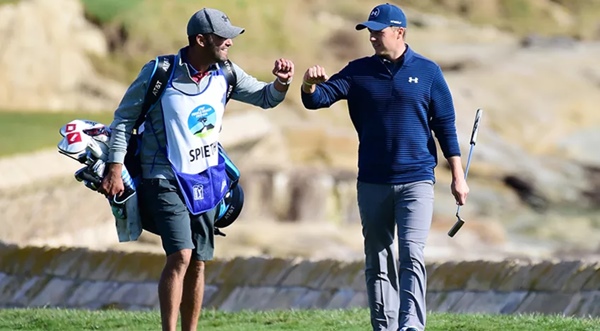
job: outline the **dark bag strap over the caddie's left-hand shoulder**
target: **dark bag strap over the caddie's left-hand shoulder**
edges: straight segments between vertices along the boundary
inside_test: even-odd
[[[138,117],[137,121],[135,121],[134,129],[137,130],[140,125],[144,123],[148,111],[152,105],[154,105],[160,99],[160,96],[167,87],[167,83],[169,82],[169,78],[173,72],[173,68],[175,68],[174,62],[175,55],[173,54],[162,55],[156,58],[156,62],[154,63],[154,71],[152,72],[152,76],[148,82],[148,89],[146,90],[146,95],[144,96],[142,113],[140,114],[140,117]]]

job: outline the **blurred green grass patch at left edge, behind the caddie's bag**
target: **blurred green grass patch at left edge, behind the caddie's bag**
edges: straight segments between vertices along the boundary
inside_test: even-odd
[[[0,157],[56,147],[61,139],[58,131],[74,119],[108,125],[112,121],[112,113],[0,111]]]

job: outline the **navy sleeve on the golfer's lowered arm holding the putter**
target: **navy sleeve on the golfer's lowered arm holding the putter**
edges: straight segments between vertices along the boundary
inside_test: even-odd
[[[429,101],[431,129],[440,143],[445,158],[460,156],[452,94],[444,79],[442,70],[439,67],[436,67],[436,70],[437,73],[431,86],[431,99]]]

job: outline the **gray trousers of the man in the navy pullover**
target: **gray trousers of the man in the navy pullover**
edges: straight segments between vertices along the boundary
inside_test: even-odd
[[[359,181],[357,192],[373,330],[398,331],[409,326],[424,330],[427,274],[423,249],[433,217],[433,182],[378,185]]]

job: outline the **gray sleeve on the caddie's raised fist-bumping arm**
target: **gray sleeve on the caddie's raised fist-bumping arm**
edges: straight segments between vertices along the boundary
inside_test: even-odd
[[[233,100],[248,103],[263,109],[274,108],[285,98],[286,92],[275,89],[273,82],[261,82],[232,63],[237,83],[231,94]]]

